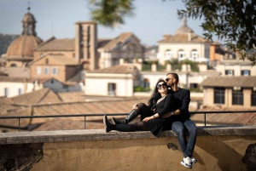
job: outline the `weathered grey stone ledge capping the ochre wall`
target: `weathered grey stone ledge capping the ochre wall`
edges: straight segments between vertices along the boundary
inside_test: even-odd
[[[253,126],[212,126],[197,127],[198,136],[209,135],[256,135],[256,125]],[[172,130],[165,131],[160,138],[177,136]],[[85,130],[63,130],[63,131],[38,131],[17,132],[0,134],[0,145],[25,144],[25,143],[47,143],[63,141],[84,140],[129,140],[129,139],[154,139],[154,135],[148,131],[118,132],[112,131],[108,134],[103,129]]]

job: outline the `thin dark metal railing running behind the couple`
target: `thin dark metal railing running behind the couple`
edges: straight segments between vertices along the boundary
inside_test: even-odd
[[[230,113],[256,113],[256,111],[190,111],[190,115],[203,114],[204,126],[207,126],[207,114],[230,114]],[[126,116],[128,113],[108,113],[108,114],[69,114],[69,115],[45,115],[45,116],[10,116],[0,117],[0,119],[19,119],[19,132],[20,132],[20,119],[24,118],[44,118],[44,117],[84,117],[84,129],[86,128],[86,117],[103,117],[108,116]],[[1,126],[0,126],[1,128]]]

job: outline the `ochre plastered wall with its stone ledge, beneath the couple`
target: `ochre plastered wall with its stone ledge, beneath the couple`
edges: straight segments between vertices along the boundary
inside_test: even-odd
[[[198,127],[192,169],[255,170],[255,143],[256,126]],[[0,170],[188,170],[182,158],[172,131],[0,134]]]

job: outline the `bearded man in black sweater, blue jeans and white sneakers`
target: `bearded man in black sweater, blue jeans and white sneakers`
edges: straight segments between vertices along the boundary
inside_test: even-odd
[[[175,98],[175,111],[168,112],[165,117],[172,117],[172,131],[177,134],[177,140],[183,151],[183,161],[181,164],[187,168],[192,168],[196,160],[193,157],[197,130],[195,123],[189,117],[190,91],[177,87],[177,73],[168,73],[166,83],[171,88],[170,94]],[[173,104],[172,104],[173,105]],[[189,140],[186,139],[186,130],[189,131]]]

